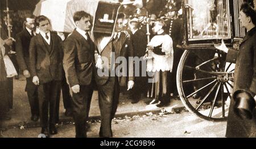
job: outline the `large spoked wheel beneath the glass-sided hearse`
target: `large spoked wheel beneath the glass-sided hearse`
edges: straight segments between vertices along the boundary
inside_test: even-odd
[[[190,112],[225,121],[233,89],[234,64],[217,50],[185,50],[177,67],[177,91]]]

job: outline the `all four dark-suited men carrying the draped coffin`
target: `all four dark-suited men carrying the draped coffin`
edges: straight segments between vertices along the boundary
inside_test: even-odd
[[[115,36],[101,50],[100,56],[132,57],[131,41],[122,31],[124,15],[119,14],[115,24]],[[38,121],[41,133],[47,137],[56,134],[59,94],[64,73],[72,91],[73,118],[76,137],[86,137],[90,101],[94,87],[97,86],[101,110],[100,137],[112,137],[111,122],[117,110],[119,86],[126,82],[126,77],[97,75],[94,52],[97,50],[89,32],[92,28],[90,15],[77,11],[73,15],[76,29],[64,41],[51,31],[51,24],[46,16],[28,17],[25,28],[16,36],[17,55],[20,69],[27,78],[26,91],[31,106],[31,120]],[[39,28],[36,34],[34,24]],[[115,69],[112,61],[104,63],[106,70]],[[63,72],[63,68],[65,72]],[[129,69],[130,76],[133,71]],[[134,78],[129,77],[128,89],[134,86]]]

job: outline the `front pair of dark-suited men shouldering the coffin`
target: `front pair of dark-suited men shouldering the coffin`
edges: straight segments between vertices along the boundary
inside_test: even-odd
[[[117,110],[119,99],[119,86],[126,82],[125,78],[114,76],[100,76],[98,69],[110,72],[118,67],[111,60],[113,57],[132,57],[133,48],[130,39],[122,33],[123,14],[118,14],[115,24],[115,36],[109,40],[104,49],[98,50],[90,37],[90,15],[84,11],[75,12],[73,20],[77,28],[64,42],[63,65],[67,81],[72,89],[73,115],[76,127],[76,137],[86,137],[86,121],[90,109],[93,88],[97,86],[99,106],[101,113],[100,137],[112,137],[111,122]],[[98,66],[94,52],[99,54],[98,58],[105,57],[108,62]],[[102,60],[102,59],[101,59]],[[114,59],[115,61],[115,59]],[[129,69],[129,74],[133,70]],[[131,75],[132,76],[132,75]],[[133,77],[129,77],[128,90],[133,88]]]

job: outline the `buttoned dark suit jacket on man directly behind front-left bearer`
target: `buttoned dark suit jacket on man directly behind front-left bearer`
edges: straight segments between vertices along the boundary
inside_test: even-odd
[[[38,76],[40,83],[62,79],[63,46],[56,33],[51,32],[50,46],[40,33],[32,37],[29,55],[30,74]]]

